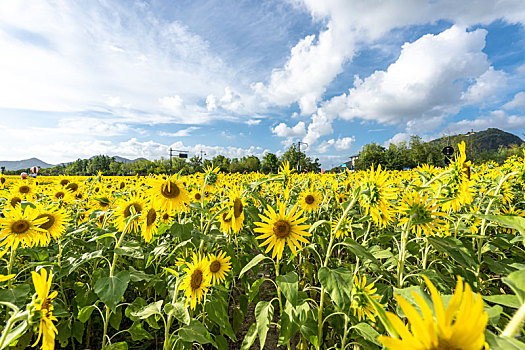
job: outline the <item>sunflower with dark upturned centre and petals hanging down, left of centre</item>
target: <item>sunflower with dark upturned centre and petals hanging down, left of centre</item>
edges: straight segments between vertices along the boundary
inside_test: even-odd
[[[190,201],[188,192],[173,176],[152,182],[153,188],[148,190],[148,195],[156,209],[169,213],[186,210],[186,204]]]

